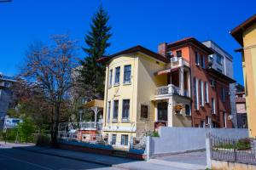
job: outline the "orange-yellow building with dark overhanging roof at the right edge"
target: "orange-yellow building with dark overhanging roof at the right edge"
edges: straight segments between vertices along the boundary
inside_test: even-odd
[[[249,134],[256,137],[256,14],[230,31],[240,43]]]

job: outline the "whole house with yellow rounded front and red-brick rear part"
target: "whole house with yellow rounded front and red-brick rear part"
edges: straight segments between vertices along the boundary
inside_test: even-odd
[[[107,64],[102,131],[108,142],[128,147],[160,126],[232,127],[227,92],[234,81],[207,67],[212,49],[193,37],[158,49],[136,46],[98,60]]]

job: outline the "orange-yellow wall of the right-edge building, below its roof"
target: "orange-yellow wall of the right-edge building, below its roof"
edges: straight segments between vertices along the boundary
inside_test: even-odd
[[[243,74],[249,134],[256,137],[256,24],[243,32]]]

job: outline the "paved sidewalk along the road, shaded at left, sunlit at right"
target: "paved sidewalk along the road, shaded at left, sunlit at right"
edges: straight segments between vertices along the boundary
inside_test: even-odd
[[[121,169],[131,169],[131,170],[188,170],[188,169],[205,169],[202,166],[196,166],[195,164],[181,163],[175,161],[162,161],[162,160],[150,160],[150,161],[137,161],[126,159],[116,156],[104,156],[92,153],[77,152],[72,150],[59,150],[53,148],[44,148],[38,146],[31,147],[17,147],[14,149],[27,150],[32,152],[37,152],[40,154],[50,155],[50,156],[61,156],[68,159],[73,159],[77,161],[90,161],[93,163],[102,164],[109,167],[117,167]],[[191,157],[191,159],[193,159]]]

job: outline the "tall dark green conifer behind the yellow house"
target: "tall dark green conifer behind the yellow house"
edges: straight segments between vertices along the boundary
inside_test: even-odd
[[[102,99],[104,96],[105,65],[96,60],[102,58],[110,46],[108,40],[112,34],[108,20],[108,13],[101,6],[92,18],[90,31],[84,37],[86,56],[81,62],[81,82],[87,99]]]

